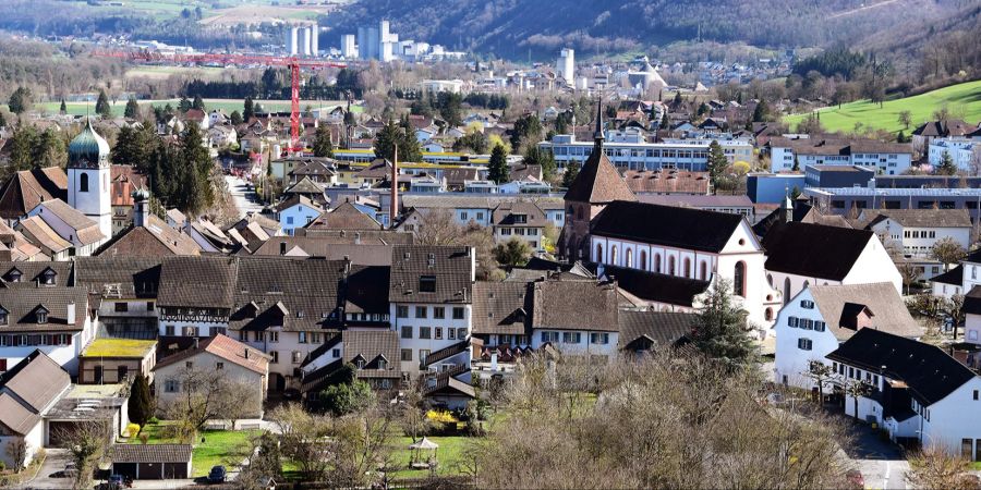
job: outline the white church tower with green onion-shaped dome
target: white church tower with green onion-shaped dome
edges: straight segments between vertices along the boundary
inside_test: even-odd
[[[92,127],[92,120],[69,144],[69,206],[99,223],[106,236],[112,236],[112,200],[109,144]]]

